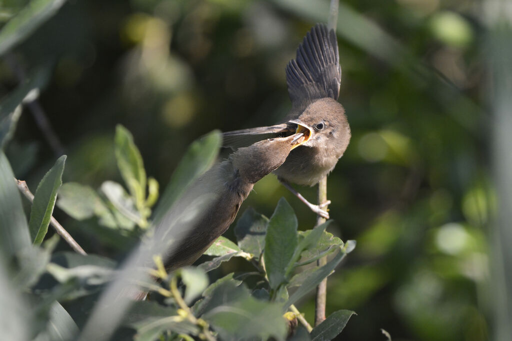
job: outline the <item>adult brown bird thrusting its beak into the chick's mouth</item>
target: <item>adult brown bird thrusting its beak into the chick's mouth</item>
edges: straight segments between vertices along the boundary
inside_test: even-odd
[[[290,150],[305,141],[301,135],[240,148],[191,185],[157,225],[161,240],[178,241],[164,257],[166,268],[194,263],[228,229],[254,184],[281,166]]]

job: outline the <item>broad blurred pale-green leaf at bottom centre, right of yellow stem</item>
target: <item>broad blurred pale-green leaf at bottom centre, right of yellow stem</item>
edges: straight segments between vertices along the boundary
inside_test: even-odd
[[[253,298],[246,287],[226,282],[214,290],[202,316],[219,333],[220,339],[274,337],[287,333],[281,306]]]

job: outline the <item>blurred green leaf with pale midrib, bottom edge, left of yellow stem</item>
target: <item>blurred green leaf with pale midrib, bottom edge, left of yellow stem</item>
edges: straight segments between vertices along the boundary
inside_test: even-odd
[[[137,330],[136,340],[155,340],[166,330],[198,335],[199,328],[178,315],[174,308],[163,307],[156,302],[134,302],[123,317],[123,325]]]

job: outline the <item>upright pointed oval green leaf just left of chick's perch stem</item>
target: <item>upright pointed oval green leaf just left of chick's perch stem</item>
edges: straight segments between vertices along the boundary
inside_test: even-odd
[[[268,222],[265,237],[265,269],[272,289],[286,282],[285,272],[297,247],[297,217],[281,198]]]

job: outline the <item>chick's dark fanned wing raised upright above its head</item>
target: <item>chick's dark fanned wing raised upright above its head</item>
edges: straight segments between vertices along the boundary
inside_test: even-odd
[[[294,108],[312,100],[339,96],[342,69],[334,30],[316,24],[304,37],[296,58],[286,66],[288,94]]]

